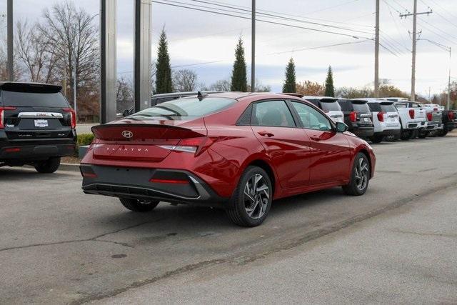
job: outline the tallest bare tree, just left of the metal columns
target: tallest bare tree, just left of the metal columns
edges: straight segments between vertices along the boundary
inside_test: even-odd
[[[99,41],[94,17],[84,9],[76,9],[69,0],[56,3],[51,10],[43,11],[44,23],[39,25],[41,36],[49,40],[59,56],[59,69],[72,92],[82,86],[85,90],[98,88]],[[86,92],[84,94],[87,95]],[[72,97],[69,100],[74,102]]]

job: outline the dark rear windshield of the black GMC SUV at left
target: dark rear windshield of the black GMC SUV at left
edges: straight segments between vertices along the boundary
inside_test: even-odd
[[[60,93],[31,93],[16,91],[1,91],[1,99],[4,106],[23,107],[56,107],[66,108],[69,106],[64,96]]]

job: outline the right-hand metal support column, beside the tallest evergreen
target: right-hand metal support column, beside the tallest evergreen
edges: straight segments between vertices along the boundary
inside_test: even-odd
[[[135,0],[135,110],[151,104],[151,0]]]

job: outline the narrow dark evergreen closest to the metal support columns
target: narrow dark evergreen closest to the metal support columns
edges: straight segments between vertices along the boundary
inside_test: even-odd
[[[156,94],[173,92],[170,55],[168,42],[166,41],[165,28],[162,28],[162,32],[160,34],[156,70]]]

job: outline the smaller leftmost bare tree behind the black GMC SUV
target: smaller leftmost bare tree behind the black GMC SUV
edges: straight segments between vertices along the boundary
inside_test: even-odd
[[[27,21],[16,23],[16,56],[24,65],[30,81],[51,83],[59,78],[54,75],[58,57],[49,39],[42,36],[38,24],[29,26]]]

